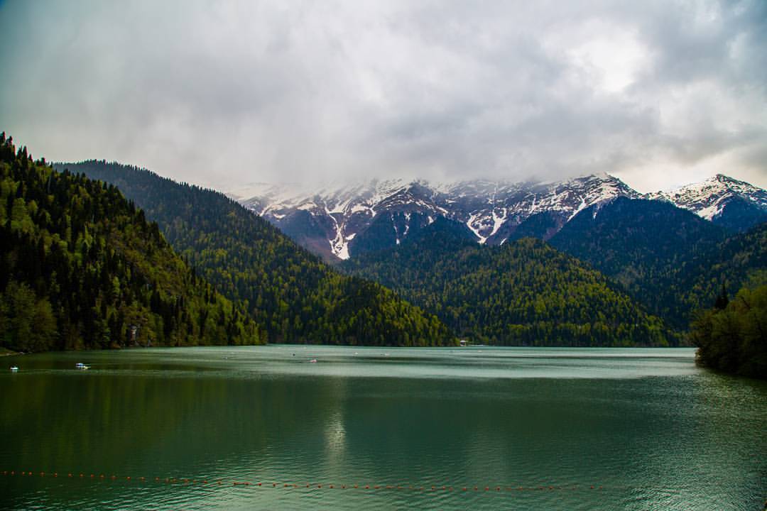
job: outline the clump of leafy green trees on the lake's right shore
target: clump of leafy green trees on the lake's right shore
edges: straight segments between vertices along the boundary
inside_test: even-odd
[[[733,300],[723,289],[712,309],[697,314],[690,339],[700,364],[767,378],[767,285],[743,287]]]

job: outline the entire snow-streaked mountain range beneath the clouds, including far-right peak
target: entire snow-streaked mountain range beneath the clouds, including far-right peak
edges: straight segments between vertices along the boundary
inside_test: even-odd
[[[397,246],[436,218],[466,225],[479,244],[554,237],[588,208],[616,198],[669,202],[728,231],[767,221],[767,192],[726,175],[641,194],[612,175],[561,182],[372,180],[353,185],[256,184],[229,194],[326,260]]]

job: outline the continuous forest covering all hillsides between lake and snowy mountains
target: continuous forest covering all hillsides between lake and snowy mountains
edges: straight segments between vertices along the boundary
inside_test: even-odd
[[[54,169],[0,142],[0,348],[15,351],[679,346],[723,283],[767,273],[767,225],[727,234],[639,200],[578,215],[551,240],[561,251],[532,238],[482,246],[439,218],[335,269],[220,192],[97,160]]]

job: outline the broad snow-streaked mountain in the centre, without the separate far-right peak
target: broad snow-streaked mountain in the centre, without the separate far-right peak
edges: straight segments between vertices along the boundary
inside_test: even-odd
[[[309,250],[340,259],[399,244],[439,216],[466,224],[481,244],[502,244],[530,218],[541,223],[538,217],[545,215],[538,234],[548,238],[584,208],[640,197],[606,174],[548,183],[389,179],[314,189],[257,184],[231,195]]]

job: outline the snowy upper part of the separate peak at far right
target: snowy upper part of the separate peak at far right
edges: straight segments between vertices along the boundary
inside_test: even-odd
[[[755,215],[758,211],[767,213],[765,190],[723,174],[668,192],[649,194],[648,198],[670,201],[679,208],[693,211],[701,218],[715,223],[726,214],[726,209],[733,202],[740,208],[752,208]]]

